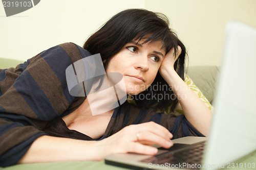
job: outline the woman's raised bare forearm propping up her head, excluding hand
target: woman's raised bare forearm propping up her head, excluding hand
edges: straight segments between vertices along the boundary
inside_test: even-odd
[[[211,111],[174,69],[165,70],[165,73],[167,74],[165,80],[176,94],[186,119],[203,135],[207,136],[211,123]]]

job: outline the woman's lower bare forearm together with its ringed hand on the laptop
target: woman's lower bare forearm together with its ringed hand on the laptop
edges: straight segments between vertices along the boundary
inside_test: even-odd
[[[147,144],[170,148],[172,137],[166,128],[154,122],[126,126],[99,141],[41,136],[17,163],[100,161],[110,154],[128,152],[155,155],[157,149]]]

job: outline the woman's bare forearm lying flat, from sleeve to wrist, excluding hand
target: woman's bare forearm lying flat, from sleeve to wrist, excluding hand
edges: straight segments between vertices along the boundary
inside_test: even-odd
[[[41,136],[18,163],[102,160],[96,141]]]

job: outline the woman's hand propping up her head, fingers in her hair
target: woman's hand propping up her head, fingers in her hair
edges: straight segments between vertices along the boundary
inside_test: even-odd
[[[164,76],[169,72],[169,70],[174,70],[174,63],[179,58],[181,54],[181,47],[178,46],[178,51],[176,52],[176,55],[174,53],[174,47],[170,49],[170,51],[165,55],[163,62],[159,68],[159,72],[164,78]]]

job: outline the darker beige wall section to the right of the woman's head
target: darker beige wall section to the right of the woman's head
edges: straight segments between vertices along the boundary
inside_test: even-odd
[[[146,9],[168,16],[187,47],[189,65],[221,65],[228,20],[256,27],[255,0],[147,0]]]

